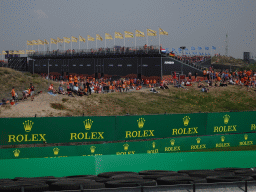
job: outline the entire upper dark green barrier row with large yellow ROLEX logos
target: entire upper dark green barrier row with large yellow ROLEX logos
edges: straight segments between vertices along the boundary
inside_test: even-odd
[[[256,131],[256,112],[0,119],[0,145],[123,141]]]

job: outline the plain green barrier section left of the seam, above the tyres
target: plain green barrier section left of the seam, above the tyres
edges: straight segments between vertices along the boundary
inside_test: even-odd
[[[71,175],[94,175],[94,157],[4,159],[0,160],[0,179],[15,177],[64,177]]]

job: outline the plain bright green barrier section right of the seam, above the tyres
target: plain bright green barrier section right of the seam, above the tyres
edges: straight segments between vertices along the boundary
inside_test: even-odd
[[[96,174],[110,171],[198,170],[256,167],[256,151],[187,152],[96,156]]]

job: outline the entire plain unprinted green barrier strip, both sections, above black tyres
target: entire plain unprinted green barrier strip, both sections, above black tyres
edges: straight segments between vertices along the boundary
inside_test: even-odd
[[[194,170],[256,167],[256,151],[187,152],[0,160],[0,179],[96,175],[109,171]]]

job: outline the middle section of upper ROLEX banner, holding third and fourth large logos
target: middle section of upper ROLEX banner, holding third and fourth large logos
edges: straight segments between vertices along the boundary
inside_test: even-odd
[[[207,114],[116,117],[116,139],[134,140],[205,135]]]

